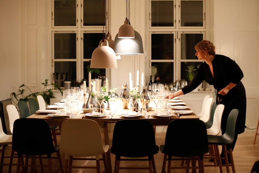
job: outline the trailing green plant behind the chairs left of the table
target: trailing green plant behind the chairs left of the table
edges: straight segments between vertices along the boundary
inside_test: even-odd
[[[53,82],[51,82],[50,84],[48,84],[48,80],[49,80],[49,79],[45,79],[45,82],[44,82],[44,83],[41,83],[41,85],[43,85],[44,88],[43,88],[41,91],[38,91],[38,92],[32,92],[31,89],[30,89],[28,86],[26,86],[26,85],[24,85],[24,84],[21,85],[21,86],[19,87],[18,94],[16,94],[15,92],[13,92],[13,93],[10,94],[12,101],[14,102],[14,99],[15,99],[16,101],[23,100],[23,101],[25,101],[25,102],[28,102],[28,99],[29,99],[29,98],[32,97],[32,98],[35,98],[35,99],[37,100],[37,95],[41,95],[41,96],[44,98],[45,102],[46,102],[47,104],[50,104],[50,98],[56,98],[55,95],[54,95],[54,93],[53,93],[53,90],[58,89],[58,90],[61,92],[61,94],[63,94],[63,90],[62,90],[60,87],[58,87],[57,85],[55,85]],[[52,86],[52,88],[47,89],[48,86]],[[29,94],[29,95],[24,95],[24,92],[25,92],[24,87],[26,87],[27,89],[29,89],[29,91],[31,92],[31,94]],[[20,98],[19,98],[19,97],[20,97]],[[14,102],[14,103],[15,103],[15,102]],[[16,104],[16,103],[15,103],[15,104]],[[16,105],[17,105],[17,104],[16,104]],[[17,106],[18,106],[18,105],[17,105]]]

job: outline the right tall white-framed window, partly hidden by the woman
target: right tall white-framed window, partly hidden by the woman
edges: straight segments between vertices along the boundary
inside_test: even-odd
[[[169,86],[176,80],[189,83],[189,68],[203,63],[194,46],[205,39],[205,1],[149,2],[149,73]]]

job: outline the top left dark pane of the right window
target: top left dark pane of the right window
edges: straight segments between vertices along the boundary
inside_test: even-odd
[[[151,26],[174,26],[174,1],[151,1]]]

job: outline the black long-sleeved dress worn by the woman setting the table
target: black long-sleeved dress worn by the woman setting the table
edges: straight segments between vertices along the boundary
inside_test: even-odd
[[[223,96],[224,112],[221,120],[222,134],[226,131],[227,118],[232,109],[239,109],[239,114],[236,122],[236,134],[245,131],[245,117],[246,117],[246,94],[245,87],[241,82],[244,77],[242,70],[234,60],[224,55],[215,55],[212,60],[212,67],[214,79],[209,69],[209,65],[204,62],[195,73],[193,80],[182,91],[184,94],[193,91],[204,80],[213,85],[215,89],[220,91],[225,88],[230,82],[236,84],[226,95]]]

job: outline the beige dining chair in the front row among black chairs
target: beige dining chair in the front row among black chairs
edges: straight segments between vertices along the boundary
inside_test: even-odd
[[[100,160],[103,160],[107,170],[106,152],[109,145],[104,145],[98,123],[91,119],[68,119],[62,123],[60,135],[60,152],[65,154],[64,171],[71,172],[72,168],[96,168],[100,173]],[[102,158],[100,158],[102,155]],[[95,158],[87,158],[95,156]],[[84,157],[84,158],[83,158]],[[73,160],[96,160],[96,167],[72,165]]]

